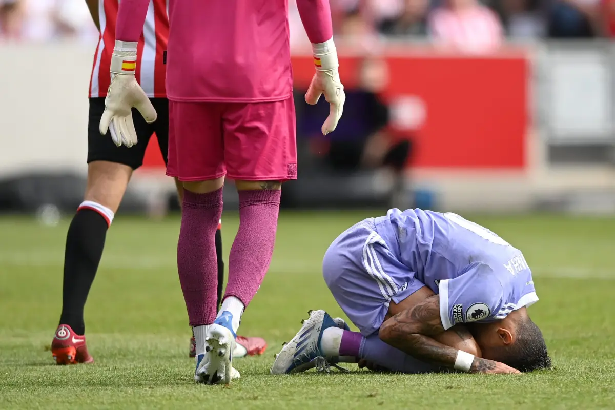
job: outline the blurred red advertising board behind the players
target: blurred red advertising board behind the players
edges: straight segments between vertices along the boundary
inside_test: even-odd
[[[384,53],[395,138],[413,138],[413,166],[523,170],[530,118],[530,64],[525,53],[483,57],[434,52]],[[347,88],[358,81],[361,57],[339,58]],[[314,74],[309,55],[293,57],[295,85],[306,89]],[[343,120],[343,119],[342,119]],[[145,165],[164,166],[148,147]]]

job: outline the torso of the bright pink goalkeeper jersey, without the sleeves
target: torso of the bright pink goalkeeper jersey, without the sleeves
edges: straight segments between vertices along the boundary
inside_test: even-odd
[[[169,100],[292,95],[287,0],[169,0],[169,25]]]

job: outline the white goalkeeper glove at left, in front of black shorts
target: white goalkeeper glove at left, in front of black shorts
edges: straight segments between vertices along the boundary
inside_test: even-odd
[[[102,135],[107,130],[117,146],[128,148],[137,143],[137,132],[132,122],[132,108],[141,112],[146,122],[156,121],[156,109],[135,79],[137,42],[116,41],[111,57],[111,84],[105,98],[105,112],[98,129]]]

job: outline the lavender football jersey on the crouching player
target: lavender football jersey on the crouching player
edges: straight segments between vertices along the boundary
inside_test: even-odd
[[[376,231],[414,278],[440,294],[445,329],[494,321],[538,301],[520,250],[454,213],[389,210]]]

